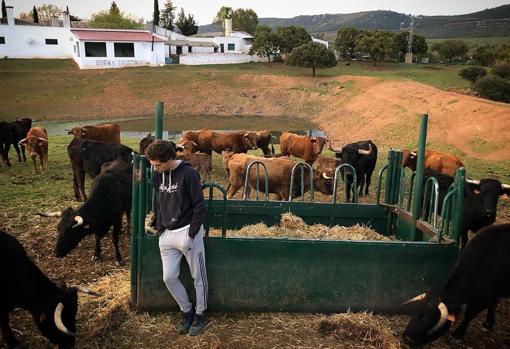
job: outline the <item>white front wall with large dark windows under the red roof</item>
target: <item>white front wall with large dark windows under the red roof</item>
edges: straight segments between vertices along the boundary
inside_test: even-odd
[[[75,44],[76,42],[78,41],[75,41]],[[73,59],[82,69],[134,67],[165,63],[164,42],[155,42],[154,51],[151,51],[151,42],[134,42],[134,57],[115,57],[113,44],[113,41],[106,41],[106,57],[85,57],[85,41],[79,41],[80,57],[77,56],[77,53],[73,53]],[[73,48],[71,50],[74,52]]]

